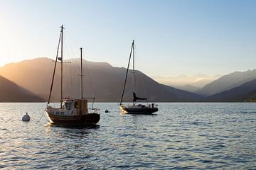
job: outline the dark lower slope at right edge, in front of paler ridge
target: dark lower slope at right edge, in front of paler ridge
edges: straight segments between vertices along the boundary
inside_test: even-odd
[[[246,82],[238,87],[223,91],[220,94],[208,96],[204,101],[217,102],[244,102],[255,99],[256,94],[256,79]]]

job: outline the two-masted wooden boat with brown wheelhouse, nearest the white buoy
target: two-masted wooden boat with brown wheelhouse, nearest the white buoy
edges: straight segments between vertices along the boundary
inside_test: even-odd
[[[96,125],[100,121],[100,113],[98,109],[92,109],[92,113],[89,113],[87,107],[87,99],[82,94],[82,48],[80,48],[80,77],[81,77],[81,98],[64,98],[63,97],[63,25],[60,27],[60,38],[58,42],[58,50],[60,47],[60,57],[58,57],[58,50],[55,60],[55,66],[53,69],[53,79],[50,86],[50,94],[48,98],[48,104],[46,107],[46,115],[51,124],[56,125]],[[54,108],[49,106],[50,96],[53,90],[53,81],[55,77],[56,64],[60,61],[60,107]],[[95,99],[95,98],[94,98]]]

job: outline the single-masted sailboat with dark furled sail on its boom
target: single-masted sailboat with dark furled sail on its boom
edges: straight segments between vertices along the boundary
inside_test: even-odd
[[[125,90],[125,86],[127,84],[127,75],[129,72],[129,63],[131,61],[131,58],[133,60],[133,69],[132,69],[132,77],[133,77],[133,101],[132,101],[132,106],[125,106],[122,104],[123,101],[123,97],[124,97],[124,90]],[[129,55],[129,62],[128,62],[128,66],[127,66],[127,72],[126,72],[126,76],[124,79],[124,88],[122,91],[122,97],[121,97],[121,101],[120,101],[120,105],[119,108],[122,111],[122,113],[129,113],[129,114],[152,114],[158,111],[158,108],[156,106],[156,104],[152,103],[149,106],[145,106],[143,104],[137,104],[137,100],[147,100],[147,98],[140,98],[138,96],[136,96],[136,92],[135,92],[135,70],[134,70],[134,40],[132,41],[132,47],[131,47],[131,52]]]

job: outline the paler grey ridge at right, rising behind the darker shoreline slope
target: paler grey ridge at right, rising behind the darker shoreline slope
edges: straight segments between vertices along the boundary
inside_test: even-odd
[[[233,89],[252,79],[256,79],[256,69],[248,70],[247,72],[233,72],[220,77],[194,93],[201,96],[212,96],[214,94],[219,94],[222,91]]]

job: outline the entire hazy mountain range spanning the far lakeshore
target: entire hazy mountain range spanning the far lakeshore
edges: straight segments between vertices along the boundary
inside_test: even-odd
[[[96,97],[96,101],[100,102],[119,102],[126,69],[112,67],[106,62],[84,63],[84,97]],[[53,67],[53,60],[48,58],[24,60],[0,67],[0,102],[47,101]],[[80,59],[66,60],[63,72],[64,96],[80,98]],[[136,71],[135,74],[137,96],[147,97],[149,102],[256,101],[256,69],[233,72],[206,84],[199,90],[191,84],[174,88],[159,84],[142,72]],[[124,101],[132,101],[132,74],[128,75],[125,91]],[[59,101],[59,98],[60,64],[57,64],[50,101]]]

